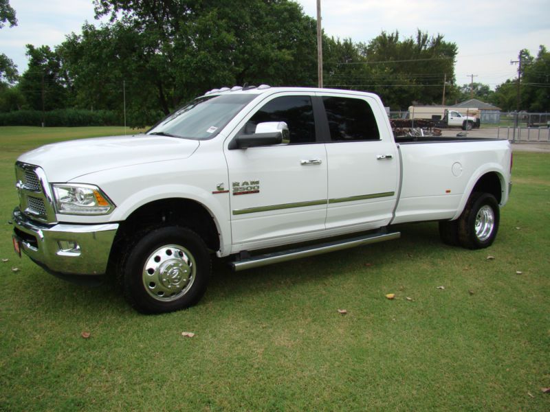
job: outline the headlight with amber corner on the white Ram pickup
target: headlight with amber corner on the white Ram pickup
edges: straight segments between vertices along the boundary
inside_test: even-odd
[[[115,204],[94,185],[54,184],[56,212],[60,214],[109,214]]]

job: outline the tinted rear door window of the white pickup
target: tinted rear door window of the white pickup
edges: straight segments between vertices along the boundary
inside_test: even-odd
[[[322,98],[332,141],[378,140],[380,133],[369,103],[353,98]]]

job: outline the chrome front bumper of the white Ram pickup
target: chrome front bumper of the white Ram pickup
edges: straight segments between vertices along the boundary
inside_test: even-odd
[[[14,238],[37,264],[63,275],[103,275],[118,223],[44,225],[13,211]]]

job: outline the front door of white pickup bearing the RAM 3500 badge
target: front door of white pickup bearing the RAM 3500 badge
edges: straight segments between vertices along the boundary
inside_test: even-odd
[[[325,229],[327,152],[317,139],[313,98],[312,92],[272,95],[237,127],[236,135],[254,133],[262,122],[285,122],[289,141],[236,150],[226,142],[235,249],[271,247]]]

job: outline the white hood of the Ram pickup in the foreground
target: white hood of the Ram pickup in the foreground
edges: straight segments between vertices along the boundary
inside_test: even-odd
[[[177,137],[96,137],[48,144],[21,155],[18,160],[43,168],[50,182],[67,182],[102,170],[185,159],[198,147],[197,140]]]

